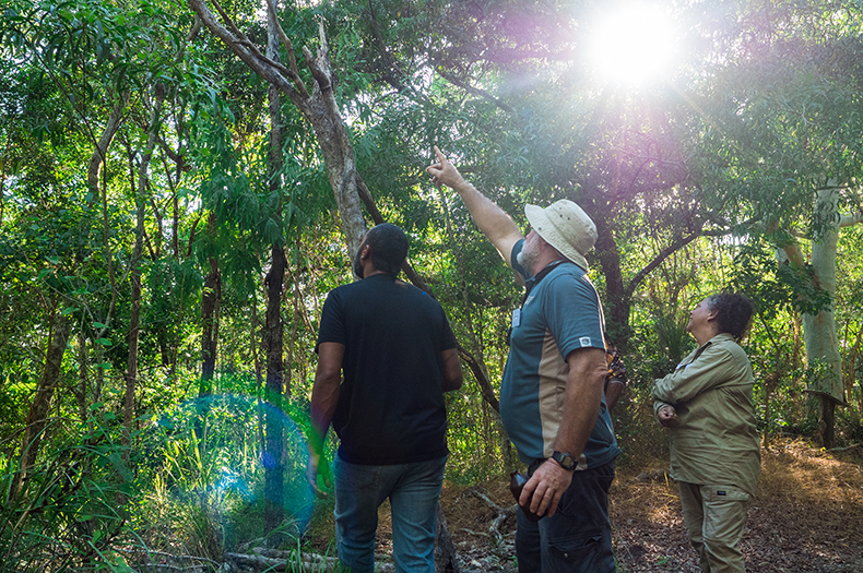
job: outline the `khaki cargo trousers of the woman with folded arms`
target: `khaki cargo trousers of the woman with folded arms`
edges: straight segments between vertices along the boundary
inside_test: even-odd
[[[702,573],[744,573],[741,537],[752,496],[734,486],[679,482],[683,518]]]

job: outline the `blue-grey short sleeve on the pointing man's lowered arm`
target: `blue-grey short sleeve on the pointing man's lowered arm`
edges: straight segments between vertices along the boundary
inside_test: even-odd
[[[545,299],[545,320],[557,342],[560,357],[566,360],[572,350],[605,350],[605,320],[596,289],[586,276],[561,274],[549,277]]]

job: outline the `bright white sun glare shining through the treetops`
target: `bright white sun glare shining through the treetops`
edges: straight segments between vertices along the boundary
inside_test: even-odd
[[[605,13],[590,33],[590,62],[607,82],[636,85],[663,77],[674,58],[674,29],[659,7]]]

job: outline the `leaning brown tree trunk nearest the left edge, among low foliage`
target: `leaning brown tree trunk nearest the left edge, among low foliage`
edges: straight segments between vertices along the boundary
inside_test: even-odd
[[[48,335],[48,348],[45,353],[45,368],[39,379],[39,386],[27,413],[26,426],[21,440],[21,471],[15,478],[12,497],[17,498],[26,489],[27,478],[36,464],[36,456],[42,445],[43,431],[48,426],[48,411],[51,407],[54,391],[62,379],[62,361],[72,323],[62,315],[62,308],[57,310],[54,325]]]

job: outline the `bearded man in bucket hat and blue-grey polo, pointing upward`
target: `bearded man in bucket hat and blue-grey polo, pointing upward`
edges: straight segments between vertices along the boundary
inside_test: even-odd
[[[427,168],[433,181],[461,195],[525,280],[500,386],[500,418],[530,476],[519,498],[519,572],[616,571],[607,500],[620,451],[603,396],[604,319],[584,259],[596,226],[563,199],[545,208],[527,205],[524,237],[440,150],[435,154]],[[522,508],[545,518],[534,523]]]

